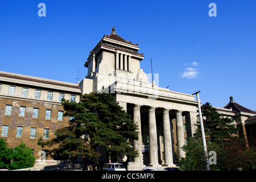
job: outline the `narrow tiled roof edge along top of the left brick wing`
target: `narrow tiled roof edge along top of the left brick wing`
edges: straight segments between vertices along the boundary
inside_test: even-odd
[[[20,79],[20,80],[42,82],[44,84],[68,86],[68,87],[71,87],[71,88],[78,88],[79,89],[78,85],[75,85],[75,84],[72,85],[72,84],[69,84],[68,82],[65,83],[65,82],[58,82],[58,81],[54,81],[54,80],[44,80],[43,78],[28,77],[28,76],[15,75],[15,74],[12,74],[12,73],[3,73],[3,72],[0,72],[0,76],[9,77],[9,78],[16,78],[16,79]]]

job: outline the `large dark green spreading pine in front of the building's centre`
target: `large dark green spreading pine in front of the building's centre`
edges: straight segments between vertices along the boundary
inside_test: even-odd
[[[98,147],[105,148],[112,161],[122,155],[137,156],[129,140],[138,139],[137,127],[131,117],[109,93],[90,93],[81,96],[80,102],[63,100],[64,116],[72,117],[69,126],[56,130],[56,138],[43,142],[47,154],[57,154],[62,159],[82,156],[85,163],[98,163]],[[49,147],[56,146],[53,149]],[[108,160],[108,159],[107,159]]]

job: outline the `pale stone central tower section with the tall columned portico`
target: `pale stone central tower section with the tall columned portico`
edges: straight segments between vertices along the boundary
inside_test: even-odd
[[[197,101],[191,94],[158,87],[157,80],[148,82],[140,68],[144,56],[138,51],[138,44],[121,38],[113,27],[85,61],[88,73],[80,82],[81,93],[97,92],[104,86],[104,92],[113,93],[131,114],[139,131],[139,139],[133,142],[139,156],[129,169],[174,166],[174,150],[184,156],[180,147],[195,133]]]

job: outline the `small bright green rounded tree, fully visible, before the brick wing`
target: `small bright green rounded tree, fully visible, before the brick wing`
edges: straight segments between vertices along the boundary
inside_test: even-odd
[[[25,143],[20,141],[20,144],[14,148],[13,162],[9,169],[22,169],[33,167],[35,157],[32,154],[32,149],[27,147]]]

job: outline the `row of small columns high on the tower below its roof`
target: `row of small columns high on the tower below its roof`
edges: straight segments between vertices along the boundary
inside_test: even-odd
[[[115,69],[121,69],[124,71],[130,71],[130,55],[123,53],[115,53]]]

